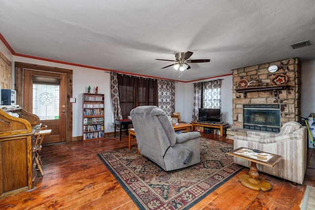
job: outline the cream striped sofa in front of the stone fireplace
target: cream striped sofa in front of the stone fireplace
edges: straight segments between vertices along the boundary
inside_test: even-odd
[[[283,156],[274,167],[257,164],[259,172],[302,184],[306,171],[307,129],[300,123],[284,123],[280,133],[248,131],[234,136],[234,149],[245,147]],[[234,162],[250,167],[250,161],[234,157]]]

